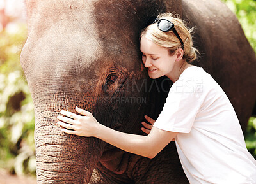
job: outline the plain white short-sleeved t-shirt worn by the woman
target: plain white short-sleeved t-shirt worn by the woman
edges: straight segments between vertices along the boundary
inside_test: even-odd
[[[234,108],[204,69],[185,69],[154,127],[179,132],[177,151],[190,183],[256,183],[256,160],[246,149]]]

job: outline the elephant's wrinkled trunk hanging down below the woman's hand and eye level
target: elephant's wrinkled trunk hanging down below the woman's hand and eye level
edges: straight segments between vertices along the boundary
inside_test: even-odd
[[[105,143],[97,138],[84,138],[61,132],[56,117],[62,109],[74,111],[74,107],[70,107],[74,103],[67,103],[67,98],[60,96],[54,93],[51,99],[44,97],[43,101],[42,96],[33,98],[36,115],[37,181],[88,183]]]

